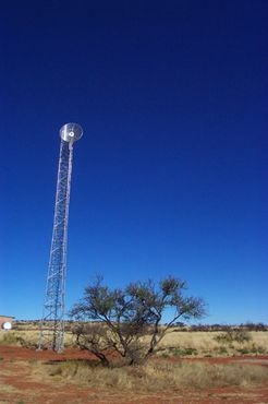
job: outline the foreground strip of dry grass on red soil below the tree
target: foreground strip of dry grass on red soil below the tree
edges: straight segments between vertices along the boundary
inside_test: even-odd
[[[268,380],[268,369],[253,365],[148,363],[143,367],[103,368],[86,361],[68,361],[49,369],[57,381],[87,387],[135,391],[252,387]]]

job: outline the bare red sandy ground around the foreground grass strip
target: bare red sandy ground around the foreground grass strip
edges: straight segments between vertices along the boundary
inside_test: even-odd
[[[0,404],[84,404],[84,403],[138,403],[138,404],[191,404],[191,403],[268,403],[268,381],[255,388],[221,388],[208,390],[178,390],[176,392],[142,393],[110,390],[97,390],[76,384],[52,384],[46,379],[35,381],[31,361],[59,361],[69,359],[88,359],[86,352],[66,349],[64,354],[36,352],[15,346],[0,346]],[[254,359],[254,361],[253,361]],[[178,360],[178,359],[173,359]],[[183,359],[203,360],[210,364],[247,361],[254,365],[268,366],[268,356],[256,358],[205,358]]]

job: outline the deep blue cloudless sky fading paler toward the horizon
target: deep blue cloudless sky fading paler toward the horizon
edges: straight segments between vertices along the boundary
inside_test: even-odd
[[[1,5],[0,313],[40,318],[60,140],[66,308],[174,274],[205,322],[268,322],[267,1]]]

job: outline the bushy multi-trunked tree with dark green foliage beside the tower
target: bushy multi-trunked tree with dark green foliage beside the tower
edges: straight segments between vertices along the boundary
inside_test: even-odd
[[[185,289],[186,283],[172,276],[158,284],[150,280],[131,283],[122,289],[109,288],[98,276],[70,312],[77,321],[73,329],[77,346],[103,365],[109,365],[107,354],[112,352],[127,365],[145,361],[179,319],[205,316],[203,299],[184,296]],[[170,320],[163,325],[167,310]]]

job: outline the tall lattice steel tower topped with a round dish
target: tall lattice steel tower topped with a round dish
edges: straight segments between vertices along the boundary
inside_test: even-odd
[[[53,231],[48,266],[47,287],[40,322],[39,349],[62,352],[64,346],[64,297],[66,271],[68,216],[71,190],[73,144],[83,130],[77,123],[60,129],[60,159],[58,169]]]

